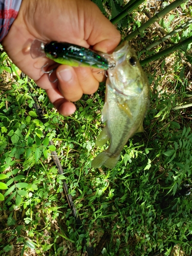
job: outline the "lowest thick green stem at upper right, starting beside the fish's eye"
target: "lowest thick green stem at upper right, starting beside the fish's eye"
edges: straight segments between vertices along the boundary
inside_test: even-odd
[[[167,54],[170,54],[172,52],[175,52],[176,50],[178,50],[179,48],[181,47],[184,47],[184,46],[187,46],[189,44],[192,43],[192,36],[188,37],[187,39],[179,42],[178,44],[175,44],[174,46],[171,46],[171,47],[168,47],[167,49],[161,51],[161,52],[158,52],[156,54],[154,54],[153,56],[151,57],[148,57],[146,59],[143,59],[140,61],[140,65],[141,66],[144,66],[145,64],[147,64],[148,62],[151,62],[151,61],[154,61],[160,57],[163,57]]]

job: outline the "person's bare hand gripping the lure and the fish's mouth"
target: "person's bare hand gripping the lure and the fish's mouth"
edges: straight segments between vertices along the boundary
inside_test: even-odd
[[[59,65],[58,81],[51,83],[41,67],[46,63],[51,66],[54,61],[32,59],[30,46],[34,39],[92,46],[93,50],[110,53],[119,44],[120,34],[90,0],[23,0],[2,45],[15,65],[46,90],[60,114],[68,116],[76,110],[72,102],[83,93],[96,92],[104,74],[96,69]]]

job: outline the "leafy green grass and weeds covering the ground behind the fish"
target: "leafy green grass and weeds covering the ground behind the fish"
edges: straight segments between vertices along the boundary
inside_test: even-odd
[[[110,10],[109,2],[105,7]],[[191,8],[182,8],[185,20]],[[121,23],[124,36],[146,19],[141,9],[131,18],[132,25]],[[168,16],[164,29],[166,24]],[[189,28],[179,37],[190,35]],[[166,48],[164,42],[142,53],[158,33],[150,28],[130,42],[139,57]],[[151,84],[145,132],[129,140],[112,170],[91,168],[94,156],[107,147],[95,146],[103,127],[104,84],[76,102],[73,116],[63,117],[1,50],[0,255],[87,255],[83,238],[94,255],[191,255],[192,116],[191,108],[173,109],[192,96],[191,50],[185,50],[144,67]],[[34,96],[45,123],[38,119]],[[63,175],[51,159],[55,149]],[[72,216],[63,181],[84,231]]]

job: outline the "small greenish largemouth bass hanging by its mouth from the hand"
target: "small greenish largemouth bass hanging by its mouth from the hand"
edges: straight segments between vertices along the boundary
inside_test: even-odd
[[[117,164],[127,141],[143,132],[143,119],[150,104],[150,86],[133,49],[125,40],[115,51],[103,54],[113,59],[115,67],[109,69],[106,79],[105,102],[101,121],[105,123],[96,145],[110,141],[109,147],[92,161],[93,168],[102,165],[110,169]]]

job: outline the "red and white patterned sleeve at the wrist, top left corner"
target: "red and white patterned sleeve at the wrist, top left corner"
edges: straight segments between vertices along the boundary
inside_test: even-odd
[[[18,15],[22,0],[0,0],[0,42]]]

